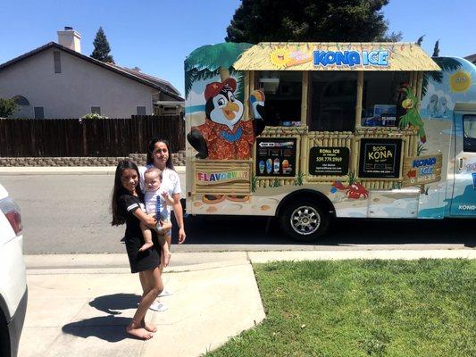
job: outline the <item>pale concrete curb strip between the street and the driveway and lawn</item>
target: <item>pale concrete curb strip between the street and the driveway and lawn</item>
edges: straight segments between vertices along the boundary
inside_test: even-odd
[[[381,250],[381,251],[267,251],[173,253],[165,272],[212,270],[236,265],[266,262],[342,260],[471,259],[476,249]],[[176,265],[175,265],[176,264]],[[25,255],[29,275],[38,274],[122,274],[129,273],[126,254],[46,254]]]

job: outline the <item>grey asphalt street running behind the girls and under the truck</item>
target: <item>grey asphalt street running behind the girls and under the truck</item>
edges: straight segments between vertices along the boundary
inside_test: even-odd
[[[21,206],[24,253],[123,253],[125,227],[110,225],[112,174],[0,175]],[[476,246],[475,220],[336,220],[315,244],[286,237],[274,219],[191,217],[175,252],[461,249]]]

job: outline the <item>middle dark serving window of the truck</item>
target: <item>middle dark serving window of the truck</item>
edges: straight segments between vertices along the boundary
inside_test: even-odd
[[[311,72],[309,127],[313,131],[355,129],[357,73],[351,71]]]

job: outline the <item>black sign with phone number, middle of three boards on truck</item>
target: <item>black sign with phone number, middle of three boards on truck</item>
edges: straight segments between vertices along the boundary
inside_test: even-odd
[[[309,153],[309,175],[347,175],[349,149],[347,147],[315,146]]]

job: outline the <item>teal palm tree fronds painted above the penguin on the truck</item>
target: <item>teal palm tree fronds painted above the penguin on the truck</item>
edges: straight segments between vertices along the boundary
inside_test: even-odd
[[[233,70],[233,63],[251,44],[224,42],[217,45],[201,46],[188,55],[185,60],[185,96],[197,80],[212,79],[220,74],[221,81],[230,78],[230,74],[242,83],[242,74]],[[243,86],[238,86],[238,99],[243,101]]]

